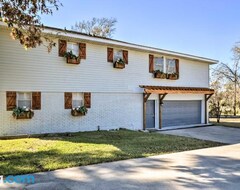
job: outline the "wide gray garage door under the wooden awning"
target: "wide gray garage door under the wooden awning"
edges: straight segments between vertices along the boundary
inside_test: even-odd
[[[201,123],[201,101],[163,101],[162,126]]]

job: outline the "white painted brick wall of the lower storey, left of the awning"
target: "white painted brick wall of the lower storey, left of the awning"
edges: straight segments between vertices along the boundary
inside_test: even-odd
[[[142,129],[142,94],[92,93],[88,114],[73,117],[64,109],[64,93],[42,93],[42,109],[34,117],[16,120],[6,111],[6,93],[0,92],[0,136],[116,129]]]

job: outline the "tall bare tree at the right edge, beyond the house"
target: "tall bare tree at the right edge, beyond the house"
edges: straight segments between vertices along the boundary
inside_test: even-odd
[[[234,86],[234,103],[233,103],[233,115],[237,114],[237,91],[240,85],[240,48],[238,45],[233,49],[233,64],[220,63],[215,69],[214,73],[219,77],[223,77],[227,81],[231,82]]]

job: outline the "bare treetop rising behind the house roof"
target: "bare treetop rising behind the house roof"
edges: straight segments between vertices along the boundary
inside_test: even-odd
[[[91,21],[76,22],[72,30],[86,33],[92,36],[111,38],[116,28],[117,19],[115,18],[93,18]]]

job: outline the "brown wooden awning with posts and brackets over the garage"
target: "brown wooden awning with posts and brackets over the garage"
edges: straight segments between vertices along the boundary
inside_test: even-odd
[[[143,93],[143,129],[146,129],[147,100],[151,94],[159,95],[159,129],[162,128],[162,105],[167,94],[204,94],[205,95],[205,123],[207,124],[207,101],[214,94],[210,88],[173,87],[173,86],[146,86],[140,85]]]

